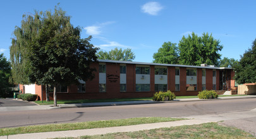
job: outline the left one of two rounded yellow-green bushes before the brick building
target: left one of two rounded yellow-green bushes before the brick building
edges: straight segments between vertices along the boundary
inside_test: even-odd
[[[167,92],[156,92],[152,98],[154,101],[164,101],[164,99],[168,97],[168,100],[176,99],[176,96],[173,92],[168,90]]]

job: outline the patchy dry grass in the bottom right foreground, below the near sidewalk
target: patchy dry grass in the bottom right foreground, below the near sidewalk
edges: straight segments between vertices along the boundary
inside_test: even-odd
[[[155,130],[143,130],[106,135],[81,136],[80,138],[255,138],[238,128],[221,126],[218,123],[205,123],[193,126],[176,126]]]

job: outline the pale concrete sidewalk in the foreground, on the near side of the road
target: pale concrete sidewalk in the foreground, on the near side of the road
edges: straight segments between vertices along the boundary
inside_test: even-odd
[[[17,138],[39,139],[39,138],[66,138],[66,137],[76,138],[78,136],[86,136],[86,135],[89,135],[89,136],[104,135],[107,133],[133,132],[133,131],[142,131],[142,130],[152,130],[157,128],[170,128],[174,126],[227,121],[232,119],[255,118],[255,116],[256,116],[256,109],[252,109],[250,111],[183,117],[183,118],[193,118],[193,119],[185,119],[181,121],[171,121],[171,122],[151,123],[151,124],[137,124],[137,125],[131,125],[131,126],[115,126],[110,128],[94,128],[94,129],[88,129],[88,130],[69,130],[69,131],[52,131],[52,132],[44,132],[44,133],[28,133],[28,134],[19,134],[19,135],[0,136],[0,139],[17,139]],[[249,132],[256,133],[256,130],[249,131]]]

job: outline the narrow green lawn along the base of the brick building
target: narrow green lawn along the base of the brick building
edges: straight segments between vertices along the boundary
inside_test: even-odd
[[[243,96],[243,95],[219,95],[219,97],[230,97],[230,96]],[[176,96],[176,99],[191,99],[198,98],[197,95],[190,96]],[[79,100],[58,100],[57,104],[77,104],[77,103],[90,103],[90,102],[119,102],[119,101],[137,101],[137,100],[152,100],[152,97],[143,98],[128,98],[128,99],[79,99]],[[53,100],[50,102],[35,101],[39,105],[53,105]]]

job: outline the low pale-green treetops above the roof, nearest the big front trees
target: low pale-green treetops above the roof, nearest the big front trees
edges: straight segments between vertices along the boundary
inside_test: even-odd
[[[116,61],[133,61],[135,59],[134,52],[130,48],[122,50],[117,47],[109,52],[99,51],[97,52],[99,59],[116,60]]]

